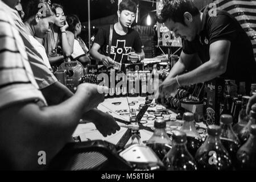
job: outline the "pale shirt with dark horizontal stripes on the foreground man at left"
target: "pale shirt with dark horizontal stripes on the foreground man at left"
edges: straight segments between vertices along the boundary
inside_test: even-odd
[[[38,88],[10,7],[0,0],[0,109],[25,101],[46,106]]]

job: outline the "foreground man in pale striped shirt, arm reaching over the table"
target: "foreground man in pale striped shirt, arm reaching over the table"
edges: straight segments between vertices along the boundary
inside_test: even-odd
[[[14,7],[19,1],[5,2]],[[0,0],[0,169],[42,169],[104,94],[96,85],[81,84],[73,97],[47,106],[9,6]],[[40,151],[46,152],[46,166],[38,163]]]

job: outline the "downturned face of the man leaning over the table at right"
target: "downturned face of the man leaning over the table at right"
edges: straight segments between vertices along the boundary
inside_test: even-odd
[[[168,19],[164,22],[164,25],[173,31],[176,38],[192,41],[196,37],[196,26],[191,19],[184,18],[185,25],[182,23],[174,22],[172,19]]]

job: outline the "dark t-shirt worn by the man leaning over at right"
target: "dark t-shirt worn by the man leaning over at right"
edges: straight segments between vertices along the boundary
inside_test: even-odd
[[[217,16],[208,14],[209,7],[203,10],[203,31],[195,40],[183,41],[183,52],[198,53],[205,63],[209,61],[209,46],[218,40],[231,42],[226,72],[221,75],[237,81],[256,81],[256,62],[249,36],[238,21],[226,11],[217,10]]]

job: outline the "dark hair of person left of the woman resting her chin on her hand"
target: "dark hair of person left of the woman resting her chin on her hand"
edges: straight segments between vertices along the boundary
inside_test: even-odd
[[[42,3],[42,6],[39,6],[40,3]],[[48,0],[30,0],[26,7],[26,17],[24,20],[26,21],[38,13],[42,13],[43,18],[53,15],[51,6],[48,4]]]

